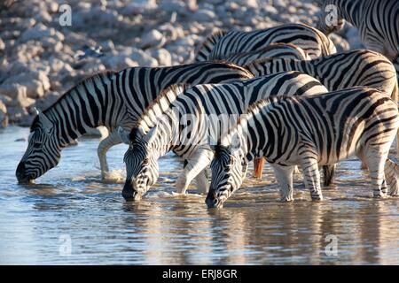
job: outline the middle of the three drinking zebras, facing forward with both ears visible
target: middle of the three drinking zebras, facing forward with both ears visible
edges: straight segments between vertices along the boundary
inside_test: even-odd
[[[177,192],[185,193],[195,179],[200,192],[207,193],[205,169],[213,157],[209,144],[216,142],[251,103],[268,96],[326,92],[318,80],[299,72],[165,90],[130,133],[119,131],[121,140],[129,144],[124,157],[127,177],[123,197],[139,200],[158,179],[158,158],[170,150],[185,160],[184,171],[176,181]]]

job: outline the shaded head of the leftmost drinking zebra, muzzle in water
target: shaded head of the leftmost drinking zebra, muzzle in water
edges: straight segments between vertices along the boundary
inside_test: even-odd
[[[19,183],[30,183],[59,164],[61,147],[54,138],[54,131],[51,120],[37,111],[30,128],[27,150],[15,172]]]

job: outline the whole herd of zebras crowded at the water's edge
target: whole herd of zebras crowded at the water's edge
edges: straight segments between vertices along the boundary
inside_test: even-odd
[[[223,206],[253,160],[257,177],[263,160],[270,163],[282,201],[293,200],[296,165],[312,200],[322,200],[319,166],[329,186],[335,164],[354,155],[368,168],[375,197],[398,195],[399,170],[387,155],[399,127],[399,1],[322,2],[322,11],[337,7],[337,25],[326,25],[325,14],[319,29],[286,24],[218,31],[200,46],[195,63],[83,80],[38,112],[18,180],[35,180],[59,163],[70,142],[106,126],[110,134],[98,146],[103,178],[107,150],[129,144],[126,200],[139,200],[153,186],[158,159],[170,150],[184,160],[177,191],[195,179],[208,207]],[[359,29],[368,50],[336,53],[325,34],[344,20]],[[238,118],[226,122],[228,130],[220,125],[226,117]]]

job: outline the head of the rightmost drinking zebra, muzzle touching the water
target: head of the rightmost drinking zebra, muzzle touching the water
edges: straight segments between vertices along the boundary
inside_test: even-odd
[[[215,158],[210,167],[212,180],[205,203],[208,208],[222,208],[223,203],[241,186],[246,160],[239,147],[219,145],[215,147]]]

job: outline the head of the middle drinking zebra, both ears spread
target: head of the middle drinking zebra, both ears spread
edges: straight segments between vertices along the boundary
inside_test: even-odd
[[[123,161],[126,164],[126,181],[122,195],[126,201],[138,201],[158,180],[158,162],[153,150],[157,126],[144,134],[141,129],[133,129],[129,134],[118,129],[121,141],[129,144]]]

